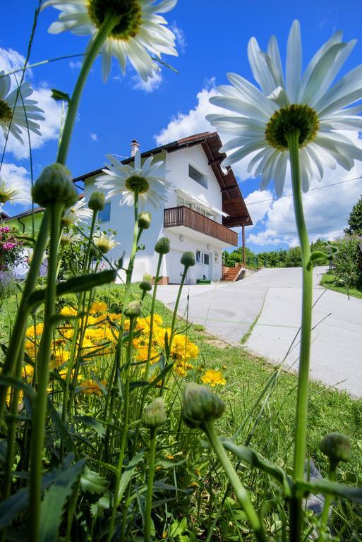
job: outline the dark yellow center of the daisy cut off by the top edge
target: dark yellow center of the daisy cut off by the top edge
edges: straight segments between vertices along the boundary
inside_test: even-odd
[[[107,13],[119,16],[119,23],[111,31],[116,40],[128,40],[135,37],[140,28],[142,10],[138,0],[89,0],[88,15],[100,28]]]

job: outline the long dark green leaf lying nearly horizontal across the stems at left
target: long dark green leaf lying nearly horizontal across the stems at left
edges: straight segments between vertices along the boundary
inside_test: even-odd
[[[114,282],[116,280],[117,270],[106,270],[99,273],[91,273],[90,275],[82,275],[81,277],[72,277],[65,282],[56,284],[56,296],[64,296],[65,294],[77,294],[80,291],[88,291],[102,284]],[[28,297],[28,306],[32,311],[44,302],[45,289],[33,291]]]

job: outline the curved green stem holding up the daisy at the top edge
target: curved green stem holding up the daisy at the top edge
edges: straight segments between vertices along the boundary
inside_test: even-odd
[[[66,157],[68,155],[69,144],[71,142],[71,134],[73,132],[74,123],[78,112],[78,106],[80,102],[80,96],[82,95],[85,81],[87,80],[90,68],[93,62],[97,58],[99,50],[101,49],[107,37],[119,21],[119,16],[115,16],[111,11],[107,11],[103,23],[99,28],[97,34],[90,42],[88,54],[85,56],[82,69],[74,88],[71,101],[69,102],[68,113],[66,115],[66,124],[64,125],[63,136],[61,138],[61,144],[59,145],[58,157],[56,162],[60,164],[66,163]]]

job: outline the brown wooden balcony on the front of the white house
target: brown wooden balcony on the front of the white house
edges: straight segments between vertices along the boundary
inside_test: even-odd
[[[238,234],[236,231],[215,222],[210,218],[200,215],[189,207],[171,207],[164,209],[164,228],[185,226],[186,228],[199,231],[201,234],[209,235],[219,241],[232,246],[238,246]]]

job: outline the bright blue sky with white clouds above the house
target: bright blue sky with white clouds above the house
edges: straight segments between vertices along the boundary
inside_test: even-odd
[[[4,62],[19,62],[16,53],[25,56],[36,5],[35,0],[16,0],[3,6],[0,37],[3,66]],[[84,51],[87,37],[76,37],[70,32],[61,35],[47,32],[57,16],[58,12],[53,8],[40,14],[31,63]],[[334,30],[343,30],[346,40],[358,39],[341,72],[345,73],[362,59],[361,16],[362,3],[356,0],[299,3],[179,0],[176,8],[165,16],[178,36],[179,56],[164,57],[179,74],[164,68],[153,88],[145,89],[131,67],[126,76],[122,76],[114,61],[109,81],[104,85],[97,61],[80,104],[68,157],[69,169],[73,176],[78,176],[101,167],[106,153],[127,156],[132,138],[140,141],[142,150],[147,150],[157,143],[207,129],[203,117],[208,112],[208,97],[215,93],[215,85],[227,82],[225,74],[234,71],[253,80],[246,54],[250,37],[255,36],[260,47],[265,49],[268,38],[275,34],[284,54],[294,18],[301,22],[304,65]],[[60,104],[52,104],[49,100],[49,88],[71,94],[79,61],[77,58],[57,61],[34,68],[30,74],[32,85],[49,106],[51,119],[45,130],[44,143],[35,142],[35,176],[56,157],[56,126],[61,112]],[[5,162],[14,175],[18,173],[27,179],[29,160],[26,152],[14,146],[13,152],[6,153]],[[248,179],[243,164],[236,165],[234,172],[239,176],[241,190],[255,222],[255,226],[248,229],[249,246],[255,251],[294,246],[296,234],[291,198],[286,196],[273,202],[272,186],[260,193],[258,179]],[[349,172],[332,171],[322,184],[347,182],[307,195],[306,215],[313,239],[317,236],[332,239],[342,234],[351,205],[362,193],[361,179],[349,179],[361,174],[361,164]],[[288,186],[286,193],[289,193]],[[15,214],[19,207],[13,205],[6,210]]]

